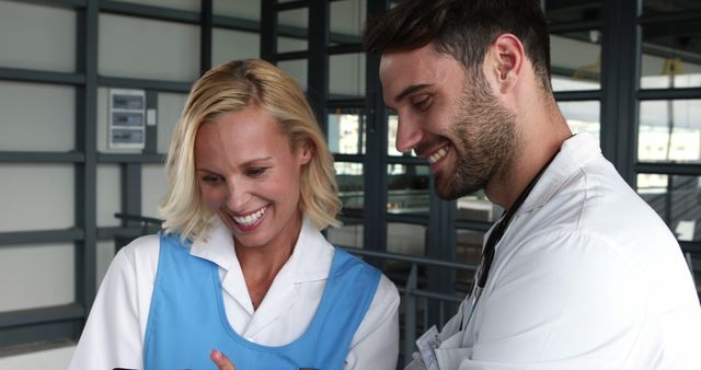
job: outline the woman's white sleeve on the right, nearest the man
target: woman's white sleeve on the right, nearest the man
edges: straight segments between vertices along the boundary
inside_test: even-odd
[[[399,292],[384,275],[365,319],[350,342],[345,370],[397,369],[399,356]]]

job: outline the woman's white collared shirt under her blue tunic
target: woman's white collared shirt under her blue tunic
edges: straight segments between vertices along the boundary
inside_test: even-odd
[[[257,310],[253,310],[226,226],[219,222],[209,241],[194,243],[191,254],[219,266],[227,317],[237,333],[261,345],[281,346],[301,336],[311,322],[334,248],[304,217],[292,255]],[[70,369],[143,369],[143,336],[158,259],[158,235],[139,238],[117,253],[102,281]],[[398,307],[397,287],[382,276],[353,337],[345,369],[397,367]]]

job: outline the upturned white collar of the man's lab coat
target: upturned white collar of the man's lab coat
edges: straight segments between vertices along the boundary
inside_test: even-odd
[[[567,178],[582,169],[586,162],[600,155],[601,149],[596,138],[589,132],[581,132],[565,140],[560,152],[536,183],[517,215],[542,207]]]

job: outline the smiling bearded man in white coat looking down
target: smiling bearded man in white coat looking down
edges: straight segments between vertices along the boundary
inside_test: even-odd
[[[572,135],[537,1],[401,1],[364,38],[397,149],[429,162],[440,197],[484,189],[506,209],[440,345],[410,368],[701,368],[679,245],[596,139]]]

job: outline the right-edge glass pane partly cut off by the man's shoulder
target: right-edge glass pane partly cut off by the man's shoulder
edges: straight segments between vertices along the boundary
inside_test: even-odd
[[[701,177],[639,174],[637,194],[678,240],[701,240]]]

